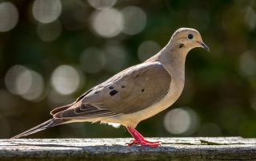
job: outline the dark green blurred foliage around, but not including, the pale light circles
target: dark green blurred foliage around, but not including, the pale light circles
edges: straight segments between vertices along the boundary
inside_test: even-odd
[[[166,112],[171,109],[167,108],[138,124],[138,131],[146,136],[256,136],[254,1],[118,0],[113,6],[116,10],[127,6],[143,10],[146,26],[139,33],[121,32],[114,37],[102,37],[94,31],[91,15],[96,11],[89,2],[62,1],[62,13],[58,17],[62,28],[54,41],[42,41],[38,36],[38,26],[43,24],[33,17],[34,1],[10,2],[18,9],[18,24],[14,29],[0,33],[0,138],[9,138],[50,119],[51,109],[73,102],[114,73],[141,62],[138,48],[143,41],[154,41],[163,47],[180,27],[198,29],[210,46],[210,53],[202,49],[190,51],[186,59],[184,91],[171,107],[193,109],[198,125],[193,132],[170,134],[164,126]],[[5,18],[4,15],[0,17]],[[94,47],[106,51],[110,45],[119,46],[124,51],[125,60],[114,56],[124,62],[122,65],[115,66],[119,62],[115,60],[109,63],[112,66],[102,67],[97,73],[82,69],[80,59],[86,49]],[[105,57],[107,61],[110,56],[106,54]],[[42,98],[26,100],[7,90],[6,73],[14,65],[40,73],[45,82]],[[70,95],[54,93],[50,84],[51,74],[59,65],[73,66],[82,77],[81,84]],[[30,135],[31,138],[124,136],[130,135],[123,127],[117,129],[90,123],[61,125]]]

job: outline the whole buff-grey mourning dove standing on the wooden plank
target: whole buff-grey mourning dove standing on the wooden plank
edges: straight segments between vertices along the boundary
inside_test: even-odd
[[[134,138],[128,146],[159,147],[160,141],[147,140],[135,128],[142,120],[162,112],[178,100],[185,84],[186,55],[197,47],[210,51],[198,30],[177,29],[167,45],[153,57],[90,88],[72,104],[53,109],[52,119],[11,139],[60,124],[101,122],[126,127]]]

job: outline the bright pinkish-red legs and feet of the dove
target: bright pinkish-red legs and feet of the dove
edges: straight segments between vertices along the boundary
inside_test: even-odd
[[[134,144],[140,144],[144,147],[158,147],[160,145],[159,142],[150,142],[146,140],[138,131],[136,131],[134,128],[127,127],[128,132],[130,132],[130,135],[134,137],[134,140],[131,141],[131,143],[128,143],[128,146],[132,146]]]

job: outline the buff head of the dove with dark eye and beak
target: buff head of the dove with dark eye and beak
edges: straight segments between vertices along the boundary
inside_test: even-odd
[[[200,33],[196,29],[180,28],[175,31],[171,37],[171,41],[178,49],[194,49],[197,47],[210,51],[209,47],[202,41]]]

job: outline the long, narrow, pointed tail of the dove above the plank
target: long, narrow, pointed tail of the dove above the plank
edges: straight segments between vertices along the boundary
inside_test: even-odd
[[[38,126],[36,126],[34,128],[30,128],[26,132],[22,132],[21,134],[15,135],[11,139],[17,139],[17,138],[20,138],[22,136],[34,134],[36,132],[40,132],[40,131],[45,130],[47,128],[52,128],[52,127],[57,126],[59,124],[65,124],[67,121],[68,120],[62,120],[62,119],[55,119],[55,118],[53,118],[53,119],[47,120],[46,122],[44,122],[42,124],[39,124]]]

